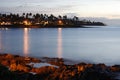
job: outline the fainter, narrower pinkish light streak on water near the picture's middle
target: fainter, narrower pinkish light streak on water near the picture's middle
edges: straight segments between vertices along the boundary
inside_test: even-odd
[[[58,28],[58,58],[62,58],[62,28]]]

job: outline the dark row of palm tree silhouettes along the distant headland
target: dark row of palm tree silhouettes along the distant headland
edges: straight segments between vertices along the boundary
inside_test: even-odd
[[[0,22],[11,22],[12,25],[24,25],[24,20],[29,21],[32,25],[37,26],[44,26],[47,24],[47,26],[81,26],[81,25],[105,25],[102,22],[91,22],[90,20],[79,20],[77,16],[74,16],[73,18],[68,18],[67,15],[58,17],[54,16],[53,14],[47,15],[47,14],[32,14],[32,13],[22,13],[22,15],[19,14],[1,14],[0,13]]]

